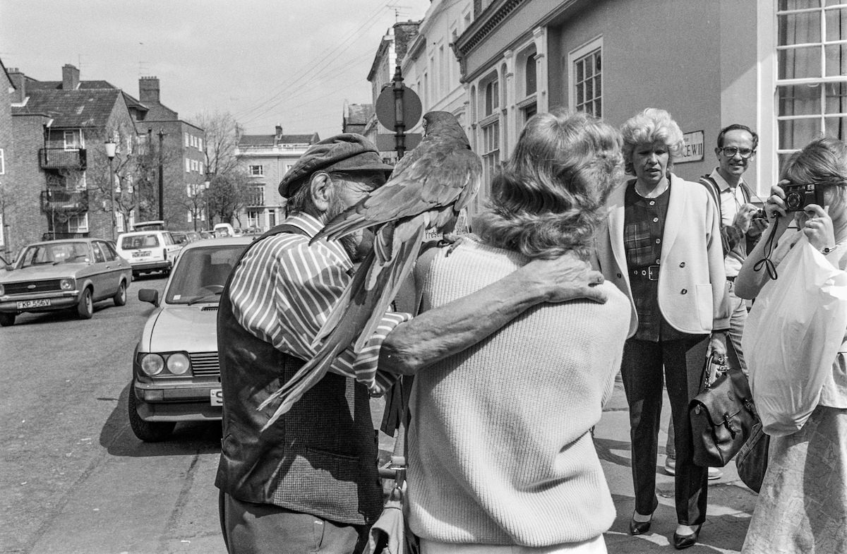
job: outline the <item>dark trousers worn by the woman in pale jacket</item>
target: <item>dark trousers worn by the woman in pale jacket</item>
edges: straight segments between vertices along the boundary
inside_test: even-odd
[[[662,418],[662,367],[671,418],[676,432],[677,520],[698,525],[706,520],[708,468],[693,461],[688,405],[700,391],[709,335],[688,335],[675,341],[637,341],[623,346],[621,376],[629,404],[632,440],[635,511],[647,515],[659,504],[656,498],[656,455]]]

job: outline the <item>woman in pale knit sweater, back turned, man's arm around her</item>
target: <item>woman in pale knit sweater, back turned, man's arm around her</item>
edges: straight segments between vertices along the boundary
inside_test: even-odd
[[[611,126],[534,115],[474,223],[479,241],[418,261],[422,310],[533,259],[586,260],[621,168]],[[531,307],[416,375],[407,500],[424,554],[606,552],[615,509],[590,429],[612,392],[628,307],[614,286],[596,286],[605,303]]]

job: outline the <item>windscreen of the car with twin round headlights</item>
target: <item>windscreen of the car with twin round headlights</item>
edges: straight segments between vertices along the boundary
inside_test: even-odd
[[[187,249],[171,275],[165,302],[218,302],[235,262],[248,245],[214,245]]]

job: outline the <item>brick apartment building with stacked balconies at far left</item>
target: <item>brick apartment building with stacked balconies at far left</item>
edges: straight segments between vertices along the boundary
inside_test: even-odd
[[[73,65],[62,80],[32,79],[8,69],[14,136],[14,194],[4,208],[6,249],[64,236],[111,238],[112,204],[105,141],[114,141],[114,164],[126,168],[137,142],[124,94],[106,81],[80,80]],[[115,195],[124,197],[116,184]]]

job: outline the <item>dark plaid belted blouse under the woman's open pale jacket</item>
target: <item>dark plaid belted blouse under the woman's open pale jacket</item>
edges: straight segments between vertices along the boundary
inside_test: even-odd
[[[659,309],[659,264],[662,262],[662,240],[671,197],[670,177],[667,191],[655,198],[645,198],[635,191],[635,180],[627,184],[623,199],[623,248],[627,256],[629,285],[633,292],[638,330],[632,337],[639,341],[658,342],[685,336],[673,329]],[[656,280],[650,280],[650,266]],[[634,271],[639,274],[634,274]],[[645,271],[645,275],[641,272]]]

